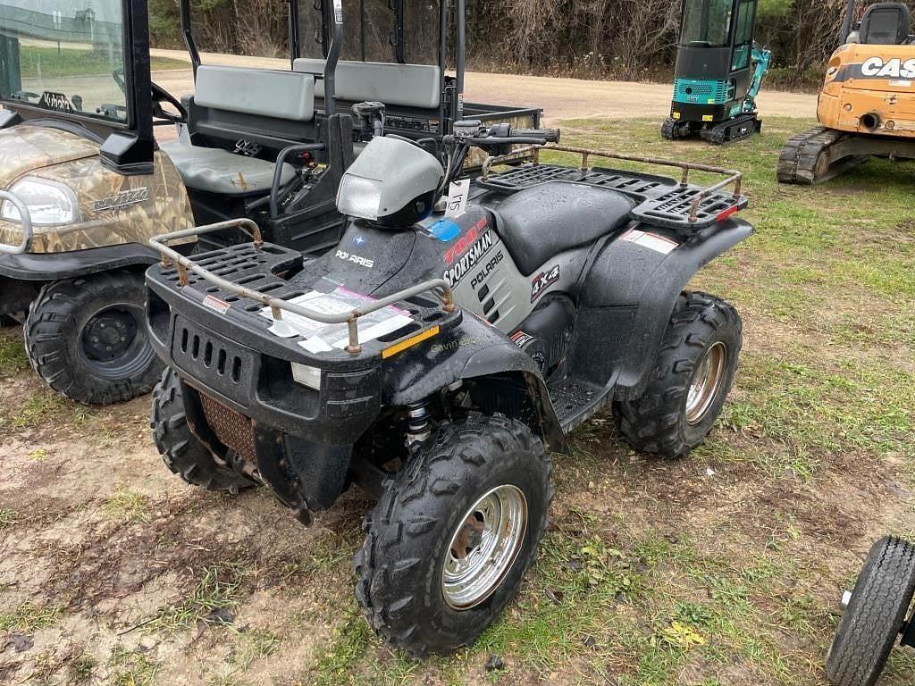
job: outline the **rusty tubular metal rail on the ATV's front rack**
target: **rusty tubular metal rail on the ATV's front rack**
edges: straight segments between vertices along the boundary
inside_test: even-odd
[[[188,257],[169,248],[167,245],[169,241],[178,241],[180,239],[200,236],[204,233],[213,233],[214,231],[229,229],[241,230],[245,235],[251,238],[255,250],[260,250],[264,245],[264,238],[261,235],[260,228],[253,220],[246,218],[220,221],[215,224],[199,226],[193,229],[165,233],[149,239],[149,245],[162,255],[162,266],[164,268],[171,267],[173,263],[177,265],[178,284],[182,288],[189,283],[188,273],[195,273],[203,280],[221,288],[223,291],[264,303],[264,305],[270,307],[270,313],[273,316],[274,323],[283,320],[283,311],[285,310],[294,315],[313,319],[321,324],[346,324],[349,331],[349,343],[345,349],[352,355],[358,355],[362,351],[359,340],[359,318],[361,316],[371,314],[388,305],[393,305],[427,292],[434,293],[442,301],[442,309],[445,312],[454,312],[456,309],[454,298],[451,294],[451,287],[448,285],[447,281],[444,279],[431,279],[422,284],[405,288],[403,291],[398,291],[397,293],[388,295],[380,300],[375,300],[371,305],[365,305],[340,315],[328,315],[322,312],[316,312],[315,310],[303,307],[302,305],[290,303],[282,298],[275,298],[272,295],[255,291],[252,288],[246,288],[241,284],[233,284],[231,281],[223,279],[221,276],[201,267],[198,263],[195,263]]]

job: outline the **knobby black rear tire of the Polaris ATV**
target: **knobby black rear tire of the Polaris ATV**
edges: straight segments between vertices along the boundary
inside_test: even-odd
[[[688,455],[721,413],[742,345],[742,324],[732,305],[714,295],[684,291],[673,307],[645,392],[613,404],[620,432],[637,450],[671,458]],[[693,413],[690,388],[705,359],[713,359],[716,385],[701,413]]]

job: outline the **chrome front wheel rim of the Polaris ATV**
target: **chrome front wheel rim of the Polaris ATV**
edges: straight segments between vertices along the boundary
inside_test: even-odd
[[[468,509],[451,536],[442,570],[448,606],[467,610],[495,592],[521,552],[527,517],[527,498],[509,485],[493,488]]]

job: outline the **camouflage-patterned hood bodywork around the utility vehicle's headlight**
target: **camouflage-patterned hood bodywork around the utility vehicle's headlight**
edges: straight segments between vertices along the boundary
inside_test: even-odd
[[[33,226],[27,252],[73,252],[145,242],[194,225],[188,193],[167,155],[156,152],[155,171],[124,176],[102,166],[99,145],[58,128],[20,124],[0,131],[0,188],[23,177],[47,179],[73,192],[75,221]],[[0,220],[0,242],[19,244],[22,227]]]

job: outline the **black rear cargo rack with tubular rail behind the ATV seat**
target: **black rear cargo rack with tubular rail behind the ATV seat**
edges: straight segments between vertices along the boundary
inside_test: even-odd
[[[546,165],[540,162],[542,151],[574,153],[581,155],[581,164],[576,169],[570,166]],[[491,175],[493,166],[517,162],[519,155],[533,153],[533,163],[512,166],[507,171]],[[604,157],[645,165],[670,166],[681,170],[680,182],[669,177],[660,177],[638,172],[623,172],[619,169],[588,167],[590,157]],[[691,171],[720,174],[725,178],[707,188],[690,185]],[[631,210],[635,219],[647,220],[671,229],[696,230],[727,219],[748,205],[748,198],[740,194],[743,174],[721,166],[695,165],[675,162],[659,157],[642,155],[621,155],[619,153],[591,150],[567,145],[528,145],[512,151],[509,155],[490,156],[483,164],[482,176],[478,183],[501,193],[515,193],[537,184],[551,181],[583,183],[600,188],[610,188],[624,193],[637,201]],[[723,192],[733,186],[733,192]]]

